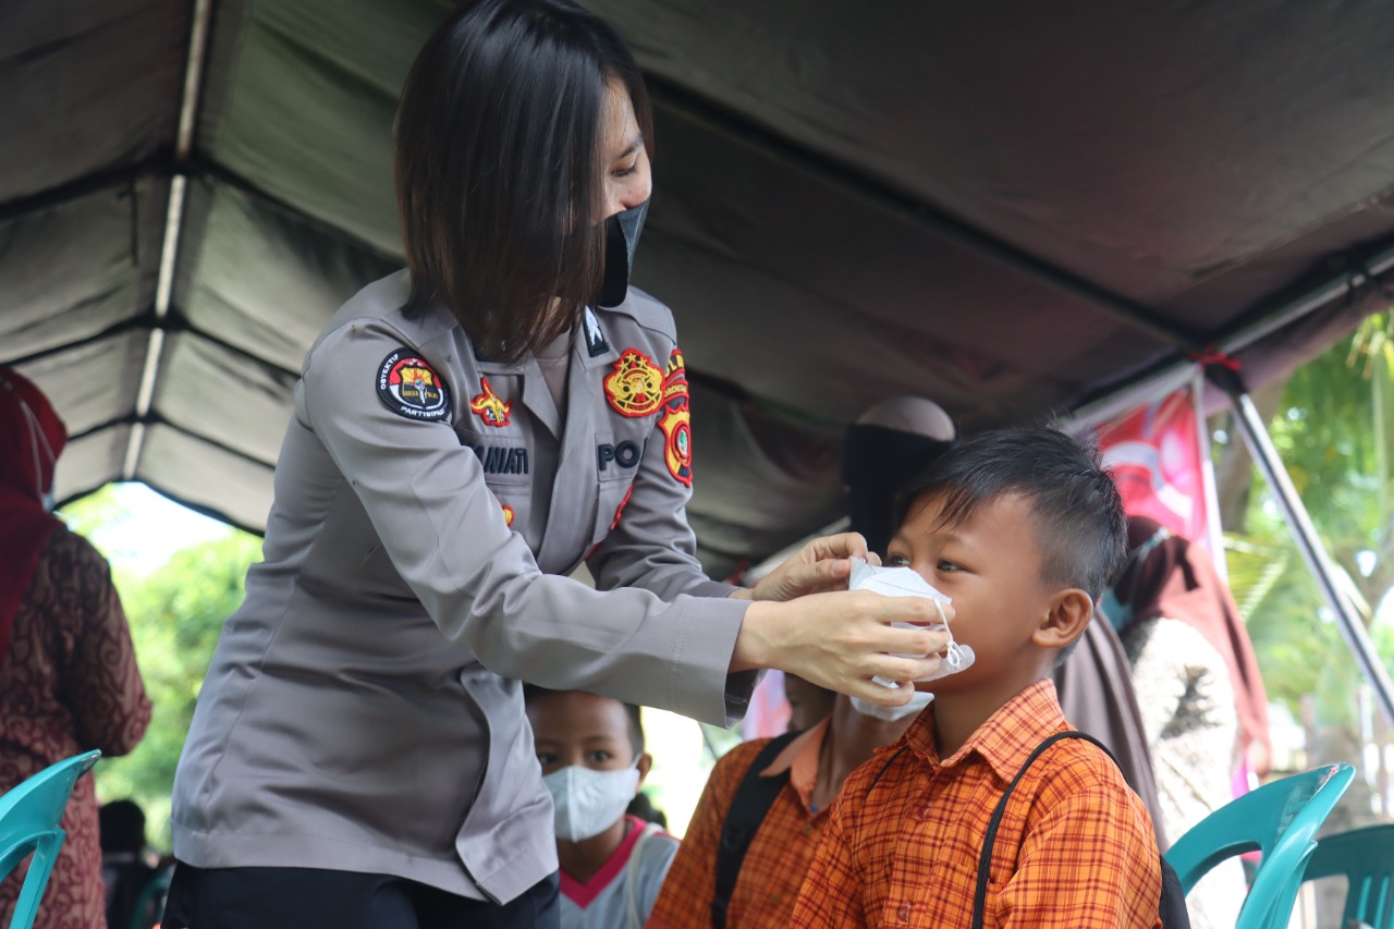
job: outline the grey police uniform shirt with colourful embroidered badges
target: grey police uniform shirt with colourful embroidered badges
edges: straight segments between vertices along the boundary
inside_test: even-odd
[[[694,555],[666,307],[630,289],[585,311],[563,417],[535,360],[475,357],[445,307],[406,318],[407,293],[406,272],[369,285],[305,357],[174,854],[507,901],[556,870],[519,679],[729,725],[749,604]],[[606,593],[559,576],[583,558]]]

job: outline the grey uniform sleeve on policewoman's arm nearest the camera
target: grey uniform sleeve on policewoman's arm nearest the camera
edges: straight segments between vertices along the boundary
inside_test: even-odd
[[[328,333],[305,363],[304,416],[442,633],[503,677],[723,725],[739,718],[753,678],[730,678],[726,670],[749,604],[643,589],[595,591],[544,575],[527,543],[505,524],[478,458],[454,430],[408,420],[379,399],[378,365],[401,343],[375,319]],[[664,584],[664,594],[676,589]]]

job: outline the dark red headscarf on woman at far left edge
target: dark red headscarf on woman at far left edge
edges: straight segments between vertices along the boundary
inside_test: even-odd
[[[0,367],[0,658],[43,544],[61,526],[43,506],[68,431],[49,398]]]

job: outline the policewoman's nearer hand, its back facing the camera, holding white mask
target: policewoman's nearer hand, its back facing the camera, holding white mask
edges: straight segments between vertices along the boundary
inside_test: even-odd
[[[913,693],[910,681],[938,671],[937,653],[948,646],[949,636],[944,629],[894,629],[891,624],[938,626],[940,605],[952,619],[949,604],[863,590],[754,603],[736,636],[730,670],[779,668],[841,693],[901,706]],[[884,688],[871,681],[874,677],[896,681],[901,688]]]

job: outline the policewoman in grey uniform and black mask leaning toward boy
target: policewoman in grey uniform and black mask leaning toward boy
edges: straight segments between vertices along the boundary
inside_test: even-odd
[[[520,681],[729,725],[761,667],[884,704],[910,689],[871,677],[935,670],[941,633],[889,626],[927,603],[845,590],[860,536],[754,591],[701,573],[683,356],[627,289],[651,138],[629,52],[566,0],[467,3],[421,52],[407,271],[305,357],[176,776],[166,926],[555,926]]]

